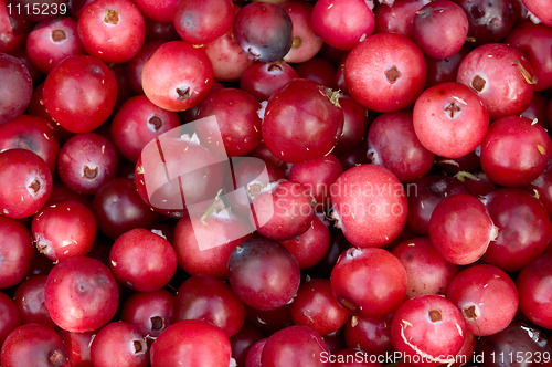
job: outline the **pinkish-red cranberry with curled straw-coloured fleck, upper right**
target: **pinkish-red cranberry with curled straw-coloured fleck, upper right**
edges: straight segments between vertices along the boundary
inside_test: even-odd
[[[490,119],[518,115],[533,97],[533,71],[521,51],[488,43],[469,52],[458,66],[456,81],[474,90]]]

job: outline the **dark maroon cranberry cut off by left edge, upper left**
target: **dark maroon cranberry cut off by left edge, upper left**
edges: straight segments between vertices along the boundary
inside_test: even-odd
[[[0,53],[0,125],[21,115],[31,103],[33,81],[25,65],[14,56]]]

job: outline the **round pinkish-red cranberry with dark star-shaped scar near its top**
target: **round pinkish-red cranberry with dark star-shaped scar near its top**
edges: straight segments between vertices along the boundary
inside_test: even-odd
[[[444,83],[417,97],[413,123],[426,149],[442,157],[458,158],[481,144],[489,127],[489,114],[469,87]]]

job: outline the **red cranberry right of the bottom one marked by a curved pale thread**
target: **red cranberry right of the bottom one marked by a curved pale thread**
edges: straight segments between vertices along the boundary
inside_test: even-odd
[[[518,290],[510,276],[487,264],[459,272],[448,287],[447,298],[461,311],[467,332],[476,336],[503,331],[519,305]]]

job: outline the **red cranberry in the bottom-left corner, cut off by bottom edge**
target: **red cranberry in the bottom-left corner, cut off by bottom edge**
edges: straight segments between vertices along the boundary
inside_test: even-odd
[[[6,367],[70,367],[71,357],[60,335],[41,324],[21,325],[2,344],[0,363]]]

